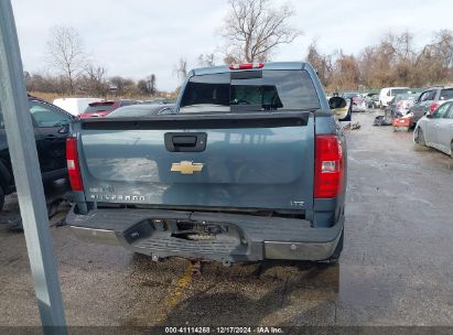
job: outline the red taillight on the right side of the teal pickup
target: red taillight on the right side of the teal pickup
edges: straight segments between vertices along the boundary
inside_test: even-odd
[[[336,136],[316,136],[314,169],[315,198],[335,197],[343,191],[343,150]]]

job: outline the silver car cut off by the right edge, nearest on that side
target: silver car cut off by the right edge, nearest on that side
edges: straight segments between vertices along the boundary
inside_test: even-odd
[[[428,112],[417,122],[413,140],[453,158],[453,99],[446,100],[432,115]]]

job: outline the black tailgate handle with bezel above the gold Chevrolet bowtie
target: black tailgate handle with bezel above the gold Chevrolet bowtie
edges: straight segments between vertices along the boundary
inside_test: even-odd
[[[201,152],[206,149],[205,132],[166,132],[165,148],[171,152]]]

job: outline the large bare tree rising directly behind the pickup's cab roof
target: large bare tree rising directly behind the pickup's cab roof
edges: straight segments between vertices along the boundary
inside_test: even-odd
[[[273,8],[269,0],[229,0],[230,11],[220,35],[226,39],[225,61],[269,61],[279,44],[291,43],[301,32],[288,23],[294,12],[288,6]]]

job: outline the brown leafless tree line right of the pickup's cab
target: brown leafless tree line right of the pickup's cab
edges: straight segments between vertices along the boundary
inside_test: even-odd
[[[331,91],[452,84],[453,34],[450,30],[435,32],[430,43],[418,48],[412,33],[388,33],[357,55],[342,50],[323,54],[313,41],[305,60]]]

